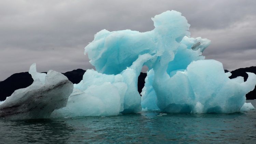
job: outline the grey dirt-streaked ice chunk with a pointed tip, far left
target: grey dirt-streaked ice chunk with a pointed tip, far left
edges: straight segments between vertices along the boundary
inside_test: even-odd
[[[37,119],[49,118],[55,109],[65,107],[73,90],[66,76],[53,70],[38,73],[35,63],[29,73],[34,82],[27,88],[15,90],[0,103],[0,118]]]

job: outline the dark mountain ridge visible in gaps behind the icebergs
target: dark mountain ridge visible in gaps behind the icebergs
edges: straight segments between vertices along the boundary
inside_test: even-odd
[[[65,72],[62,74],[67,76],[69,81],[71,81],[73,84],[77,84],[83,79],[83,75],[85,72],[86,71],[83,69],[77,69],[77,70]],[[225,70],[225,72],[228,72],[228,70]],[[231,71],[232,75],[229,78],[243,76],[244,80],[246,81],[248,78],[248,75],[246,74],[246,72],[252,72],[256,74],[256,67],[253,66],[248,68],[240,68],[240,69]],[[144,87],[146,76],[147,76],[146,73],[140,73],[138,77],[139,93],[141,93],[142,88]],[[11,96],[16,89],[28,87],[32,83],[33,83],[33,79],[28,72],[15,73],[10,77],[8,77],[6,80],[0,81],[0,101],[3,101],[6,99],[6,97]],[[253,91],[247,93],[246,99],[256,99],[256,87]]]

